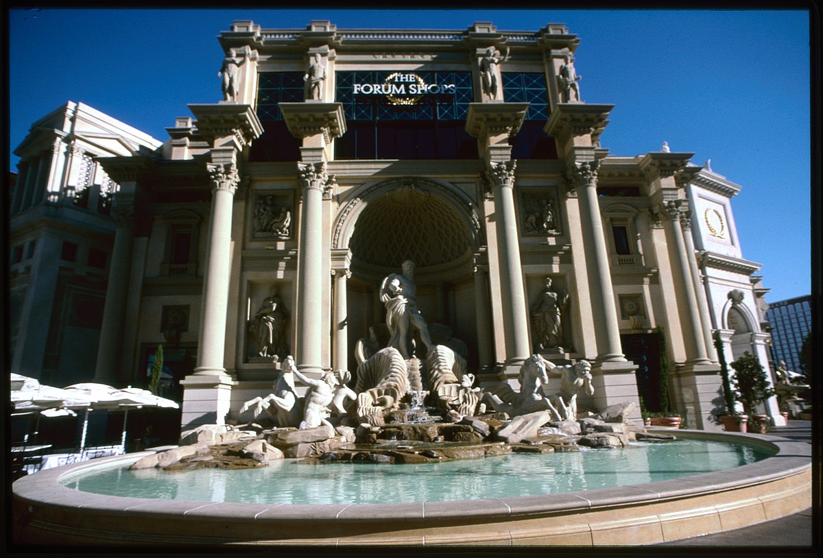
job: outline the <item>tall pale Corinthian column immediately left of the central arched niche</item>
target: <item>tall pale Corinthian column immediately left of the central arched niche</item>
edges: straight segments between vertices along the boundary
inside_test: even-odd
[[[323,372],[323,192],[326,163],[298,163],[303,195],[297,255],[297,356],[301,371]],[[327,272],[328,273],[328,272]]]

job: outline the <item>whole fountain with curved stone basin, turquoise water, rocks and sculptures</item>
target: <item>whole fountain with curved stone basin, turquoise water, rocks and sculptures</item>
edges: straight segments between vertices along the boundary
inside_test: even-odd
[[[353,388],[345,371],[308,378],[286,357],[272,393],[244,403],[248,424],[21,478],[16,542],[653,544],[811,506],[808,444],[647,430],[628,420],[631,403],[586,408],[585,360],[535,354],[519,390],[476,387],[460,343],[432,342],[407,275],[384,281],[391,341],[360,340]],[[595,480],[606,477],[611,485]]]

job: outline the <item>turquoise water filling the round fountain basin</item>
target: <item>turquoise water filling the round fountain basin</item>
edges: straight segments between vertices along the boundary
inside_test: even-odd
[[[626,449],[583,449],[404,465],[305,464],[188,472],[115,467],[61,479],[77,491],[157,500],[247,504],[388,504],[495,499],[630,486],[716,472],[774,453],[765,446],[678,439]]]

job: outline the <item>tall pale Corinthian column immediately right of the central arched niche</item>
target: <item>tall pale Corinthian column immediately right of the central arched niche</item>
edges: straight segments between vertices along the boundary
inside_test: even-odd
[[[500,272],[500,306],[503,309],[506,364],[518,364],[529,355],[528,315],[523,291],[523,269],[517,216],[514,212],[514,160],[492,161],[487,173],[494,185],[497,265]]]

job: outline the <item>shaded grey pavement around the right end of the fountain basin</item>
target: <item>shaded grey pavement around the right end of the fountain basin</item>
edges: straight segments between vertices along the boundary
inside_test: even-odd
[[[811,421],[788,421],[786,426],[777,426],[770,434],[802,440],[811,444]],[[812,517],[812,510],[804,509],[797,514],[775,519],[733,531],[718,532],[701,537],[663,542],[655,546],[738,546],[751,551],[762,549],[767,552],[795,554],[797,551],[813,556],[812,546],[820,545],[820,518]],[[777,555],[775,555],[777,556]]]

